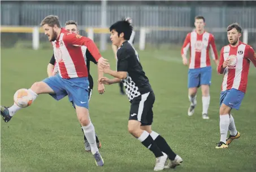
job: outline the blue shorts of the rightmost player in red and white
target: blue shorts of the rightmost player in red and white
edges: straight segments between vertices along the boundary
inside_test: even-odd
[[[239,109],[244,99],[245,93],[237,89],[225,90],[220,92],[220,105],[224,103],[228,107]]]

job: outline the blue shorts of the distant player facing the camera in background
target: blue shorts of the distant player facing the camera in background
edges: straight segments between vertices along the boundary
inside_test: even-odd
[[[211,85],[211,67],[188,70],[188,87],[193,88],[201,85]]]

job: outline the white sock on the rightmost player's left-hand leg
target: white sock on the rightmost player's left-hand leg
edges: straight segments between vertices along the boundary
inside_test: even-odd
[[[229,115],[220,115],[220,142],[226,143],[229,126]]]

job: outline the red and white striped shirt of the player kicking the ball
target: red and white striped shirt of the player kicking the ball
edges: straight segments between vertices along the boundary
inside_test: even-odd
[[[63,28],[60,36],[52,43],[59,75],[62,78],[88,77],[81,46],[86,46],[96,61],[101,58],[101,54],[92,39],[68,32]]]

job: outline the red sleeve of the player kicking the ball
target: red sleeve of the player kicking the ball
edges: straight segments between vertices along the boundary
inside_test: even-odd
[[[93,58],[97,62],[98,62],[98,59],[102,57],[101,54],[99,53],[98,47],[90,38],[83,37],[75,33],[67,33],[63,41],[73,46],[86,46],[90,54],[92,54]]]

